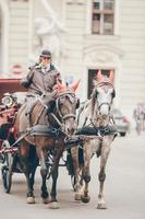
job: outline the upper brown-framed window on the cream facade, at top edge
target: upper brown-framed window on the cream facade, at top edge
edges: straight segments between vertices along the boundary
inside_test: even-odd
[[[92,33],[113,34],[114,0],[93,0]]]

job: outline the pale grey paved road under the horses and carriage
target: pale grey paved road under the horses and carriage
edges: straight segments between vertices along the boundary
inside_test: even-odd
[[[108,209],[97,210],[98,164],[93,159],[90,203],[73,200],[70,177],[64,168],[60,169],[58,199],[60,209],[51,210],[43,205],[39,196],[39,172],[37,172],[36,204],[25,203],[25,177],[13,175],[12,193],[4,194],[0,180],[0,219],[145,219],[145,134],[130,134],[118,137],[112,143],[107,165],[105,195]]]

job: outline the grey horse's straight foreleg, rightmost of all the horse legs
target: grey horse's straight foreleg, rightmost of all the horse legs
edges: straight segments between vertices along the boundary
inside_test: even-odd
[[[106,163],[108,160],[108,155],[110,152],[110,143],[112,141],[112,137],[104,137],[104,142],[101,146],[101,154],[100,154],[100,171],[98,174],[98,180],[99,180],[99,195],[98,195],[98,205],[97,209],[106,209],[106,203],[105,203],[105,197],[104,197],[104,183],[106,180]],[[110,139],[109,139],[110,138]]]

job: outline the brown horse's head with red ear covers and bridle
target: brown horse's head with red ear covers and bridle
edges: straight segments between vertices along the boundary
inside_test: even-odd
[[[58,96],[56,100],[56,112],[60,123],[63,125],[65,134],[73,135],[76,129],[75,114],[80,105],[80,100],[75,96],[78,82],[70,88],[57,82]]]

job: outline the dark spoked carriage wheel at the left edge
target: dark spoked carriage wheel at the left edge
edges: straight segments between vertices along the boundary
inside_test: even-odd
[[[8,140],[4,140],[2,147],[10,148]],[[13,168],[13,155],[11,153],[5,153],[4,163],[1,168],[2,183],[5,193],[10,193],[12,185],[12,168]]]

